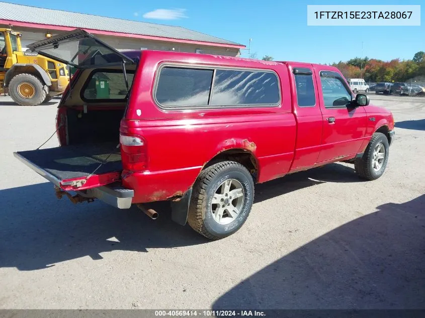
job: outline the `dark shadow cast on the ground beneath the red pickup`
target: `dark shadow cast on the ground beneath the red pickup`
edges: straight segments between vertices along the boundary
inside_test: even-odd
[[[256,202],[321,182],[356,181],[353,168],[332,164],[259,184]],[[168,202],[151,207],[159,212],[156,221],[136,207],[58,200],[51,183],[0,190],[0,267],[37,270],[84,256],[101,259],[100,253],[113,250],[146,252],[209,242],[188,225],[173,223]],[[119,242],[107,241],[112,237]]]

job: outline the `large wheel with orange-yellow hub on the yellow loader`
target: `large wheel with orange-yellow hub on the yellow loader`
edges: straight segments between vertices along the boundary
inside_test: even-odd
[[[31,74],[15,75],[9,83],[9,95],[22,106],[36,106],[46,98],[43,83]]]

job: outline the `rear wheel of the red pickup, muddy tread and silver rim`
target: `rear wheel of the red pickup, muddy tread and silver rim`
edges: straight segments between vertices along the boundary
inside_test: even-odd
[[[240,163],[224,161],[203,170],[195,182],[188,223],[199,234],[219,240],[245,223],[254,199],[254,182]]]

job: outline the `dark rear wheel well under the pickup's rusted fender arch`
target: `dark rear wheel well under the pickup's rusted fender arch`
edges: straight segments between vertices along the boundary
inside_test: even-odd
[[[246,150],[243,150],[243,149],[225,150],[217,154],[210,161],[208,161],[204,165],[203,169],[221,161],[235,161],[240,163],[242,166],[248,169],[249,173],[252,175],[254,182],[257,181],[259,164],[258,164],[257,158],[252,153],[247,152]]]

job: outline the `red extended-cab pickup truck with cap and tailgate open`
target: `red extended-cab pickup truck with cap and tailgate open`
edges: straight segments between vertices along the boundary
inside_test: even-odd
[[[392,114],[331,66],[119,52],[82,30],[29,48],[77,70],[58,106],[60,147],[15,156],[73,202],[155,218],[142,203],[169,200],[174,221],[220,239],[246,221],[254,183],[336,161],[374,180],[388,162]]]

